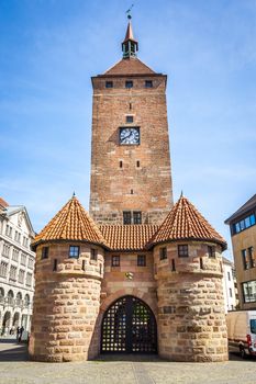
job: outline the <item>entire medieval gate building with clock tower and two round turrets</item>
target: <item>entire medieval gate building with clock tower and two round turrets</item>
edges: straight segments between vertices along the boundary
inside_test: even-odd
[[[90,214],[74,195],[35,237],[30,355],[227,359],[225,240],[186,199],[172,205],[166,76],[137,57],[92,78]]]

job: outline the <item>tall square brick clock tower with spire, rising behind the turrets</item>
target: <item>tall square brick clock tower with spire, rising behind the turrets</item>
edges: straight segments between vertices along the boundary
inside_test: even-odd
[[[98,224],[160,224],[172,206],[167,76],[137,49],[130,20],[122,59],[91,79],[90,215]]]

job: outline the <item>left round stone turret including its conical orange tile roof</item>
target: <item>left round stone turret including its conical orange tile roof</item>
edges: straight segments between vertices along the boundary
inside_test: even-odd
[[[31,358],[54,362],[94,358],[104,266],[102,235],[74,196],[36,236],[34,248]]]

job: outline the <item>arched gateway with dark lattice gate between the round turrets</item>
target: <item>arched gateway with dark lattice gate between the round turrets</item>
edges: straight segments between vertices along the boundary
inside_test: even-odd
[[[142,300],[123,296],[105,310],[101,328],[101,353],[156,353],[156,320]]]

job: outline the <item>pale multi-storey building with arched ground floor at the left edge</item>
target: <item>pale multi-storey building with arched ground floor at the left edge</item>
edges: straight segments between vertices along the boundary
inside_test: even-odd
[[[30,330],[34,294],[34,239],[24,206],[0,199],[0,329],[1,335],[18,326]]]

